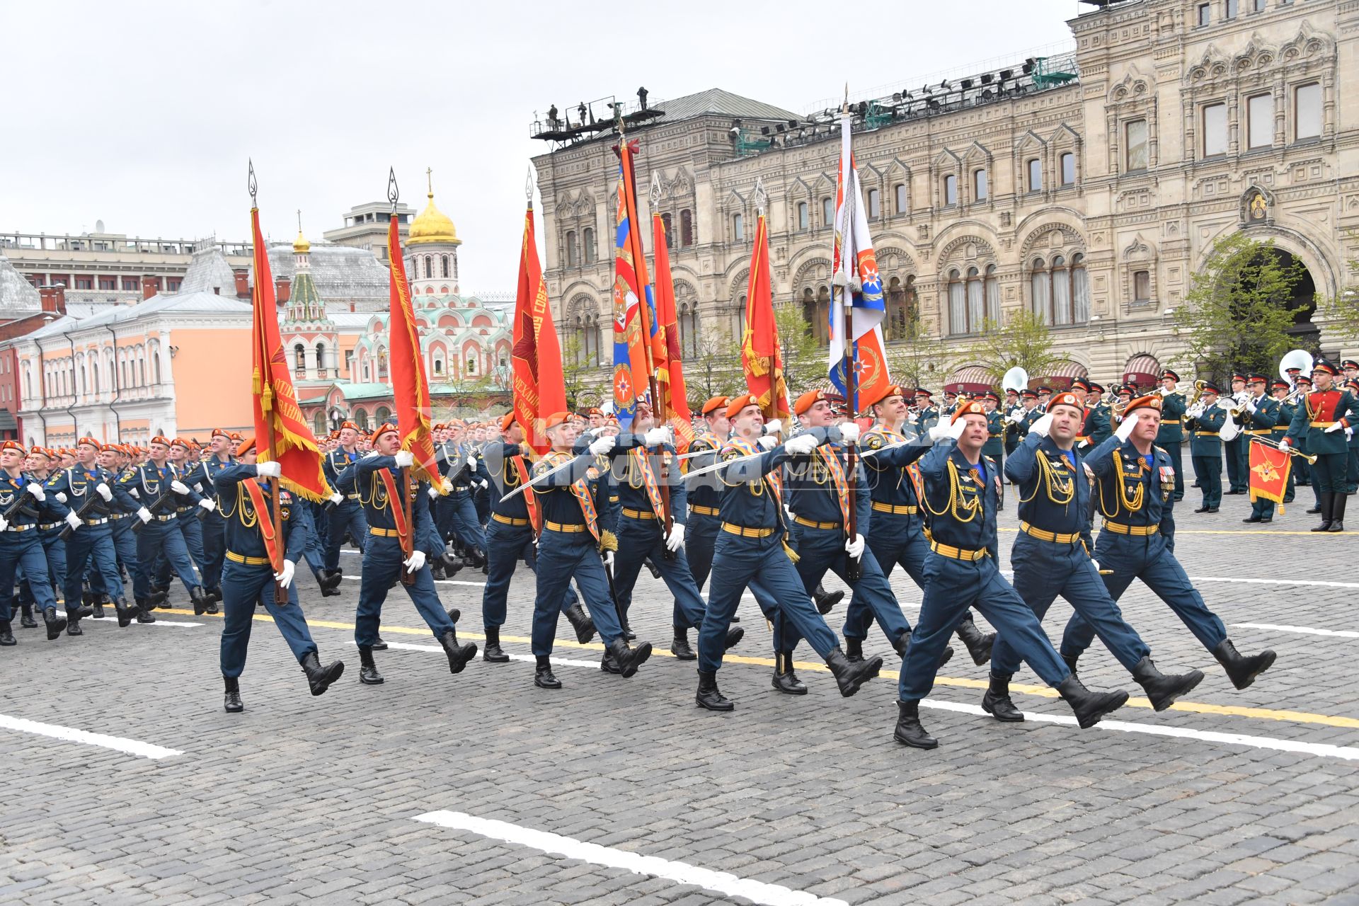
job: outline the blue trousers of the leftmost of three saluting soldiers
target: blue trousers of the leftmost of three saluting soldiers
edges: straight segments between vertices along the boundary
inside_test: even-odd
[[[1042,682],[1056,686],[1071,671],[1042,634],[1038,618],[1023,598],[1007,583],[991,557],[966,562],[931,553],[925,560],[925,596],[920,619],[911,633],[911,648],[901,660],[897,694],[901,701],[919,701],[934,689],[939,655],[962,613],[976,607],[1008,640]]]

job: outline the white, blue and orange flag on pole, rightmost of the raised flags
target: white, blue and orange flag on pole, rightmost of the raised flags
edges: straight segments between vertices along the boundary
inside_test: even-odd
[[[849,148],[851,114],[840,114],[840,173],[836,179],[836,236],[832,254],[834,291],[830,302],[830,363],[828,375],[840,393],[848,380],[845,367],[855,363],[858,395],[849,399],[853,413],[859,399],[875,399],[877,391],[890,383],[887,359],[882,353],[882,319],[887,307],[882,295],[882,276],[872,254],[868,217],[863,211],[863,190]],[[851,336],[845,337],[845,296],[851,306]]]

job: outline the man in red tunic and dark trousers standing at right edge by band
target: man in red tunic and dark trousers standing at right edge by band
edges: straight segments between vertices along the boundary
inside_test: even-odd
[[[1284,446],[1306,440],[1307,452],[1317,458],[1311,465],[1311,481],[1320,497],[1321,524],[1313,531],[1345,530],[1345,435],[1359,425],[1359,397],[1335,386],[1337,372],[1339,368],[1325,359],[1311,365],[1316,390],[1302,398],[1283,439]]]

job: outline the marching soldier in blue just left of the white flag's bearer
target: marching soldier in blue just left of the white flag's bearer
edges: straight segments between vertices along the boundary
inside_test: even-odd
[[[712,560],[712,590],[708,613],[699,633],[699,691],[694,701],[708,710],[735,708],[718,689],[718,670],[726,651],[731,617],[746,587],[761,587],[757,600],[776,600],[776,615],[821,655],[845,698],[859,691],[882,670],[882,657],[851,663],[840,640],[817,613],[792,564],[787,545],[787,524],[777,470],[790,456],[810,455],[818,446],[810,432],[776,446],[771,435],[761,437],[764,416],[750,394],[734,397],[727,406],[733,436],[723,444],[719,460],[728,463],[716,474],[722,489],[722,532]],[[776,645],[781,642],[776,641]],[[792,672],[792,662],[776,655],[776,674]]]

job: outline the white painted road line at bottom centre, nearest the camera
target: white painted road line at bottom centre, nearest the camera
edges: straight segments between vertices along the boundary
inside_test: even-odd
[[[704,890],[716,891],[723,896],[745,896],[750,902],[762,903],[764,906],[848,906],[843,899],[817,896],[781,884],[766,884],[758,880],[738,877],[728,872],[690,865],[689,863],[677,863],[656,856],[641,856],[640,853],[631,853],[614,849],[613,846],[587,844],[572,837],[522,827],[510,822],[477,818],[476,815],[463,812],[425,812],[424,815],[416,815],[416,820],[439,825],[440,827],[451,827],[453,830],[472,831],[491,839],[537,849],[549,856],[579,858],[594,865],[621,868],[635,875],[665,877],[677,884],[693,884]]]

